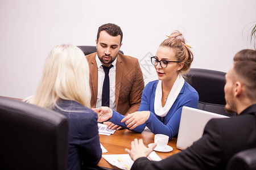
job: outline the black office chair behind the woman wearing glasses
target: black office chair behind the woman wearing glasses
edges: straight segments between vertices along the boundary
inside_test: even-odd
[[[225,74],[221,71],[207,69],[190,69],[185,75],[187,82],[199,94],[198,108],[204,111],[233,116],[235,113],[225,112]]]

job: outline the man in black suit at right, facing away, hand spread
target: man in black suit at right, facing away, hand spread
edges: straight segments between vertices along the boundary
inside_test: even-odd
[[[131,169],[225,169],[237,152],[256,147],[256,51],[241,50],[234,56],[224,87],[226,111],[231,118],[212,119],[201,139],[191,147],[160,162],[146,158],[155,147],[142,139],[131,143],[126,152],[135,161]]]

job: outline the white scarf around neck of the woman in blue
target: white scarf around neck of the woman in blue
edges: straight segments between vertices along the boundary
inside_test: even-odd
[[[166,114],[170,111],[172,105],[174,104],[174,101],[176,100],[177,96],[180,93],[181,88],[184,85],[184,78],[179,74],[177,76],[177,79],[174,82],[174,86],[172,86],[172,89],[170,91],[170,94],[167,97],[166,104],[164,107],[162,107],[162,81],[159,80],[158,86],[155,90],[155,114],[164,117]]]

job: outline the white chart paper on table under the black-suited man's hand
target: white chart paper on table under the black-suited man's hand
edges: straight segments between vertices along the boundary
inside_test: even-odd
[[[120,169],[131,169],[134,161],[131,159],[129,154],[117,154],[117,155],[102,155],[102,157],[110,164]],[[162,160],[156,152],[151,152],[147,157],[149,160],[160,161]]]

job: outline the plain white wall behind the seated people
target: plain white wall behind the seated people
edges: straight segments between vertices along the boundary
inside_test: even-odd
[[[0,96],[34,94],[51,48],[95,45],[105,23],[122,28],[121,50],[139,58],[146,83],[157,78],[150,53],[175,29],[193,48],[192,67],[226,72],[234,54],[251,48],[255,7],[255,0],[0,0]]]

